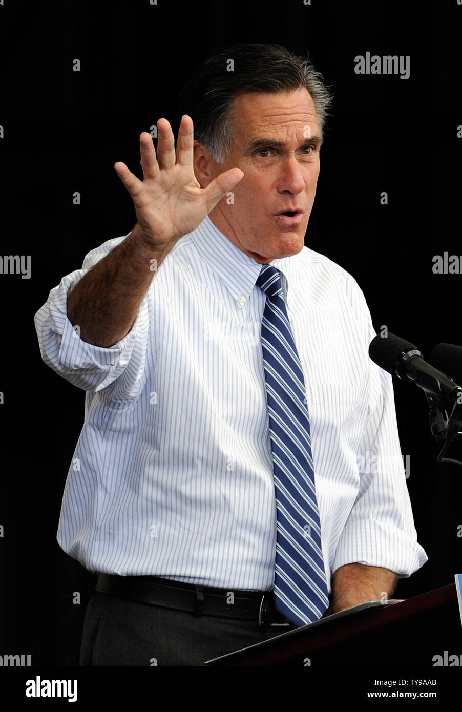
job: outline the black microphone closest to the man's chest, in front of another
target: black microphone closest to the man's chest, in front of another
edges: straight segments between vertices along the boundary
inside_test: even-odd
[[[440,344],[439,346],[448,346]],[[451,345],[449,345],[451,346]],[[461,347],[458,360],[461,359]],[[435,354],[436,352],[436,354]],[[454,360],[453,350],[436,347],[432,356],[439,359],[441,354],[450,352]],[[438,399],[450,402],[462,403],[462,387],[453,382],[451,378],[424,361],[424,357],[411,342],[401,339],[401,337],[388,333],[387,337],[376,336],[369,345],[369,357],[374,363],[385,371],[401,379],[410,379],[416,386],[423,389],[426,394]]]

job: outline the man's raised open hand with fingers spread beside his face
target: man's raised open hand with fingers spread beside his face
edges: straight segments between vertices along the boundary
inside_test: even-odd
[[[140,135],[144,179],[132,174],[125,163],[114,166],[135,204],[140,239],[154,251],[167,253],[183,235],[196,229],[243,177],[241,169],[231,168],[201,188],[194,176],[193,141],[193,122],[185,114],[175,153],[172,127],[167,119],[159,119],[157,157],[149,133]]]

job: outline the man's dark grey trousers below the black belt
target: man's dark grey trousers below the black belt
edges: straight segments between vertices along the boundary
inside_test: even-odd
[[[85,611],[80,665],[203,665],[295,627],[197,617],[94,591]]]

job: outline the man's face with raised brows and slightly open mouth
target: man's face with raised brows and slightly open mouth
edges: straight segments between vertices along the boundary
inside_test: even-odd
[[[231,150],[223,164],[204,147],[194,149],[202,187],[229,168],[244,174],[233,189],[233,204],[221,199],[211,221],[259,263],[294,255],[303,248],[320,170],[313,100],[305,88],[243,94],[234,99],[233,117]],[[280,215],[289,210],[298,211],[295,218]]]

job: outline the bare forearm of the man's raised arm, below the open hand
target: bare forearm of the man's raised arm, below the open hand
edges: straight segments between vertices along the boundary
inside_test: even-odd
[[[142,244],[135,226],[78,281],[68,295],[67,314],[83,341],[107,348],[127,335],[166,254]]]

